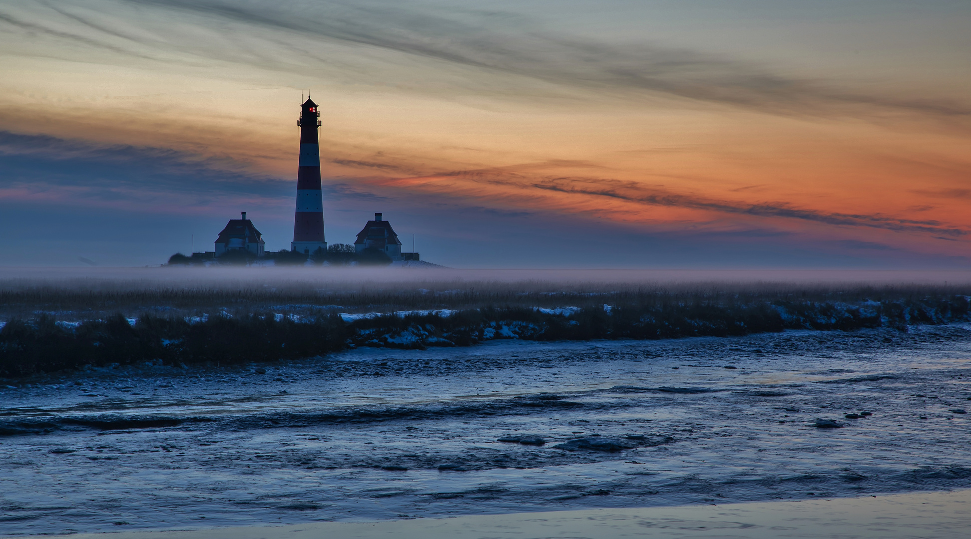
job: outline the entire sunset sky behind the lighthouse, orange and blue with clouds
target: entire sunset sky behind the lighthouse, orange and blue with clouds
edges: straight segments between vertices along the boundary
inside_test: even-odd
[[[327,241],[453,268],[971,267],[966,0],[0,0],[7,266]],[[86,261],[86,262],[85,262]]]

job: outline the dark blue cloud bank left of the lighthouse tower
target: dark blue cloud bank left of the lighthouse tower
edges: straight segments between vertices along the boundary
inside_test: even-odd
[[[289,183],[225,159],[166,148],[0,131],[0,200],[191,211],[243,201],[292,204]]]

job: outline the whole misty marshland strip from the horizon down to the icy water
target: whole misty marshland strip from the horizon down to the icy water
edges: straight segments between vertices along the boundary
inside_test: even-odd
[[[729,274],[738,278],[724,278]],[[967,276],[169,268],[79,275],[39,270],[0,281],[0,376],[86,365],[273,362],[360,346],[424,349],[503,338],[908,332],[916,325],[971,322]]]

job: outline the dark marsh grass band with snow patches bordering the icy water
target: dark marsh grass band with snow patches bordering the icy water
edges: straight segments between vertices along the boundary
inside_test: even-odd
[[[7,291],[0,296],[3,301],[34,315],[12,317],[0,329],[0,375],[143,362],[248,364],[319,356],[353,346],[468,346],[503,337],[657,339],[787,329],[906,329],[914,324],[966,321],[971,315],[968,296],[932,287],[610,286],[598,290],[590,286],[551,291],[541,283],[478,287],[465,283],[464,289],[419,288]],[[337,303],[344,306],[333,306]],[[537,309],[566,304],[580,308],[568,316]],[[152,305],[151,311],[145,305]],[[50,314],[54,308],[74,317],[110,308],[117,312],[91,316],[72,326],[58,324]],[[183,316],[214,308],[218,313],[194,322]],[[452,312],[429,312],[436,308]],[[124,309],[142,313],[130,324]],[[385,314],[348,322],[337,314],[338,309]],[[159,315],[158,310],[169,312]],[[294,319],[280,310],[302,314]]]

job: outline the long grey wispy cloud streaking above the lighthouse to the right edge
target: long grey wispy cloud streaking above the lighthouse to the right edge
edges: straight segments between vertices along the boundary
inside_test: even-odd
[[[493,87],[488,79],[513,77],[595,92],[598,99],[666,96],[787,115],[971,115],[965,103],[861,93],[835,80],[787,77],[768,66],[702,50],[598,42],[554,32],[512,13],[356,0],[94,0],[48,6],[47,13],[59,15],[58,20],[38,17],[38,12],[27,19],[2,9],[0,20],[26,32],[142,58],[183,51],[293,73],[320,73],[335,63],[352,69],[364,58],[375,61],[375,52],[392,52],[424,61],[430,71],[447,66],[476,71],[478,80],[451,83],[485,92]],[[100,20],[106,18],[114,24]],[[321,44],[348,49],[335,58],[334,49],[321,51]],[[357,70],[393,77],[387,67],[394,58],[381,61],[381,68],[358,65]],[[408,81],[390,81],[417,88]]]

